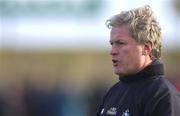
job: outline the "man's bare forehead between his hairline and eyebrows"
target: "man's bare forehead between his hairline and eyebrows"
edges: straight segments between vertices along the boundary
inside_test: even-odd
[[[112,27],[111,40],[132,38],[128,29],[128,26],[122,25],[119,27]]]

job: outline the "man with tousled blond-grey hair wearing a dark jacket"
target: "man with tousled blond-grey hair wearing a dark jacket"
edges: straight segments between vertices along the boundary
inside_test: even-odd
[[[180,96],[164,77],[161,29],[146,5],[107,20],[114,73],[120,81],[98,116],[180,116]]]

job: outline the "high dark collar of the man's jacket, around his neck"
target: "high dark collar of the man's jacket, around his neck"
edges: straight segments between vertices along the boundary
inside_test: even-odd
[[[158,59],[155,59],[150,65],[145,67],[142,71],[138,72],[137,74],[119,77],[119,80],[122,82],[133,82],[137,80],[152,78],[159,75],[164,75],[164,67]]]

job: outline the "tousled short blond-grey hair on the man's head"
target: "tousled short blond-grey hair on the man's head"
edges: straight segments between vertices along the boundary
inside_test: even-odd
[[[122,11],[106,21],[108,28],[127,25],[131,36],[138,43],[152,42],[153,50],[151,58],[161,57],[161,28],[153,16],[153,11],[149,5]]]

